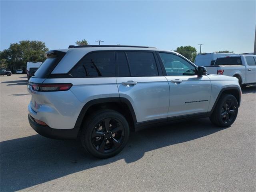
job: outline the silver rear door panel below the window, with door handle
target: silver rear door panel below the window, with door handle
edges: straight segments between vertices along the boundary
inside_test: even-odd
[[[170,90],[164,76],[117,77],[116,81],[120,97],[132,104],[137,122],[167,118]]]

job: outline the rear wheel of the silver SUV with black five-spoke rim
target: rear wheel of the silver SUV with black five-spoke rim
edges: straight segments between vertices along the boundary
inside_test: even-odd
[[[126,146],[129,134],[128,122],[122,114],[102,109],[86,118],[80,133],[80,141],[92,156],[110,158]]]

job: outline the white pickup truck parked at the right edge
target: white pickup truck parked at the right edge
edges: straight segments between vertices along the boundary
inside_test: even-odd
[[[213,66],[206,66],[208,74],[234,76],[240,86],[256,84],[256,55],[219,57]]]

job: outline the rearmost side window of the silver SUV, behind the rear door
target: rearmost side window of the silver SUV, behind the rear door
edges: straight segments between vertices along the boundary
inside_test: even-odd
[[[92,52],[84,56],[70,72],[75,78],[115,77],[114,52]]]

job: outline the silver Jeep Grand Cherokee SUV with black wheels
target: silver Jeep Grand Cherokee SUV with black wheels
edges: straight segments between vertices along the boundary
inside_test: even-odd
[[[98,158],[118,154],[129,132],[149,124],[210,117],[236,119],[235,77],[209,75],[182,55],[141,46],[71,46],[46,52],[28,83],[28,120],[39,134],[80,137]]]

